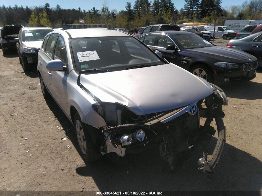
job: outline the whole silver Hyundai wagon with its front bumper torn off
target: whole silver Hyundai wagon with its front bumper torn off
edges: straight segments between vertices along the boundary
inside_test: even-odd
[[[213,171],[225,142],[227,98],[219,87],[114,30],[48,33],[38,62],[43,96],[52,96],[74,125],[84,160],[121,158],[160,144],[161,156],[174,168],[178,154],[211,139],[215,119],[215,151],[199,159],[200,169]],[[199,117],[207,119],[205,128]]]

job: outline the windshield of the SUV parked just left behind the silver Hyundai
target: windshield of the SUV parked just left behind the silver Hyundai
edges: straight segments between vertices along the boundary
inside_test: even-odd
[[[47,33],[54,31],[52,29],[38,29],[23,31],[23,41],[43,41]]]

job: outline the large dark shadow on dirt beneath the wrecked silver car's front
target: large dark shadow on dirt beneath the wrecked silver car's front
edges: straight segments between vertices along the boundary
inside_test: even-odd
[[[215,145],[216,139],[210,143]],[[164,163],[155,148],[133,155],[129,168],[104,157],[76,172],[91,176],[100,190],[261,190],[262,162],[252,155],[225,144],[213,174],[197,169],[200,157],[194,156],[175,173],[164,174]]]

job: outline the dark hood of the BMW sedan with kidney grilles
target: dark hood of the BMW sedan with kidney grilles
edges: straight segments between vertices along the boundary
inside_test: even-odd
[[[229,63],[237,63],[238,61],[254,58],[251,54],[248,54],[241,50],[235,50],[223,46],[212,46],[206,48],[194,48],[186,50],[194,54],[209,56],[212,59],[217,59]]]

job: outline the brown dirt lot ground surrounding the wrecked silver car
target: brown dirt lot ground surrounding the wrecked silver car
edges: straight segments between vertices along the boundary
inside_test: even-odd
[[[107,157],[85,163],[69,121],[54,100],[44,100],[37,72],[24,73],[17,54],[0,50],[0,190],[261,190],[262,73],[221,88],[229,99],[227,136],[213,174],[198,171],[199,157],[164,174],[157,148],[133,155],[129,168]]]

